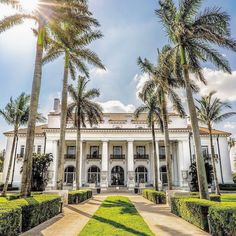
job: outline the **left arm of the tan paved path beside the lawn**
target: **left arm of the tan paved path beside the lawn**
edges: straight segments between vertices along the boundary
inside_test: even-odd
[[[22,236],[77,236],[104,199],[105,196],[96,195],[88,202],[69,205],[64,208],[63,214],[27,231]]]

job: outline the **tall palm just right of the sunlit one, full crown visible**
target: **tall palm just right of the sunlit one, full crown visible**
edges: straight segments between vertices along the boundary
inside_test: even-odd
[[[68,78],[70,75],[72,79],[75,80],[76,70],[79,70],[88,77],[89,72],[85,62],[105,69],[96,53],[86,47],[88,44],[101,37],[102,34],[100,31],[77,32],[71,31],[70,28],[64,26],[60,37],[56,35],[49,40],[47,53],[44,57],[44,62],[47,63],[56,60],[61,55],[64,56],[64,78],[62,85],[60,141],[58,151],[58,189],[63,189]]]

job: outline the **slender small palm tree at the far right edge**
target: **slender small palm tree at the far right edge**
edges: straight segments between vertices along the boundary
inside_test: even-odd
[[[219,98],[213,98],[215,95],[215,91],[210,92],[208,96],[203,96],[200,100],[196,99],[198,105],[197,113],[201,122],[207,125],[209,129],[209,138],[211,145],[211,163],[213,167],[214,181],[216,186],[216,194],[220,194],[220,188],[217,178],[216,172],[216,164],[215,164],[215,150],[213,145],[213,134],[212,134],[212,126],[223,120],[236,115],[236,112],[227,112],[223,113],[223,110],[226,108],[231,108],[230,104],[227,102],[222,102]]]

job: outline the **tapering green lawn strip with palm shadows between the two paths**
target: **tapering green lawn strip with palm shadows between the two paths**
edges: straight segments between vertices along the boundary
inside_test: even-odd
[[[106,198],[80,236],[154,235],[127,197]]]

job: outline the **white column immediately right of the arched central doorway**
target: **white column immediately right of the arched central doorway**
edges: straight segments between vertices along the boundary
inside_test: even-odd
[[[134,140],[128,140],[128,180],[127,187],[133,190],[135,187],[135,172],[134,172]]]

